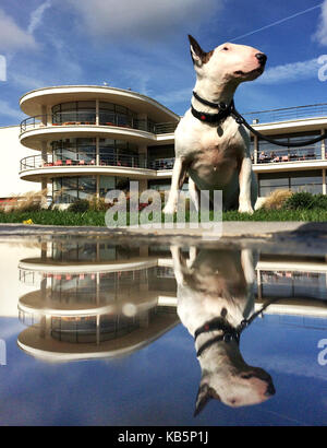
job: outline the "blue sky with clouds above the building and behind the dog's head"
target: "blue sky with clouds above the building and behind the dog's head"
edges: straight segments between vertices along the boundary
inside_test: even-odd
[[[1,0],[0,126],[24,118],[25,92],[65,84],[132,89],[183,115],[187,34],[205,50],[234,42],[268,55],[266,73],[238,90],[240,111],[326,102],[327,0]]]

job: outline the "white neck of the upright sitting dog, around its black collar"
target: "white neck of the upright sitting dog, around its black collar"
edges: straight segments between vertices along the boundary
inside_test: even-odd
[[[206,99],[210,103],[225,103],[229,105],[234,96],[238,85],[231,83],[215,83],[213,84],[211,80],[208,79],[197,79],[194,92],[197,93],[203,99]],[[204,105],[198,102],[194,96],[192,97],[192,105],[196,110],[205,113],[217,113],[217,109]]]

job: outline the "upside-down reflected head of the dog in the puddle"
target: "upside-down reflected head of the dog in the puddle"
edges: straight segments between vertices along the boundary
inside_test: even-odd
[[[258,404],[275,394],[272,379],[259,367],[251,367],[243,372],[221,375],[205,373],[197,392],[196,416],[213,398],[231,408]]]

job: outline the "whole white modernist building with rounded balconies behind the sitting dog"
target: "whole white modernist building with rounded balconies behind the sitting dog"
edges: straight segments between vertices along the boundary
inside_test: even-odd
[[[155,99],[108,86],[57,86],[26,93],[20,126],[0,128],[0,199],[48,188],[57,203],[111,189],[169,188],[180,117]],[[302,142],[327,129],[327,104],[245,114],[263,134]],[[10,150],[10,152],[9,152]],[[275,146],[253,137],[259,196],[277,188],[326,194],[326,141]],[[7,156],[4,154],[8,154]]]

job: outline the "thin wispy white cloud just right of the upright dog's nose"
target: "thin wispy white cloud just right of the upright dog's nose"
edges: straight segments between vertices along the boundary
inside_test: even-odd
[[[318,58],[271,67],[256,80],[256,83],[277,84],[317,78],[320,67]]]

